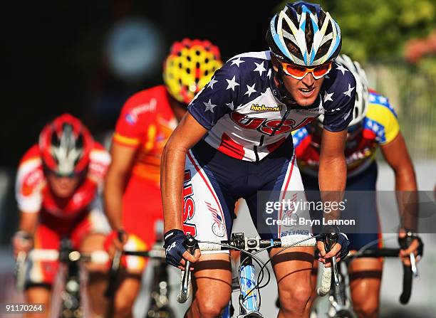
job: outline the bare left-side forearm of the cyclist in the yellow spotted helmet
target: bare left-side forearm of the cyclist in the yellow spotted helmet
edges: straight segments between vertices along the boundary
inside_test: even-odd
[[[118,230],[123,227],[123,194],[125,184],[124,174],[110,172],[105,181],[104,202],[105,213],[110,227]]]

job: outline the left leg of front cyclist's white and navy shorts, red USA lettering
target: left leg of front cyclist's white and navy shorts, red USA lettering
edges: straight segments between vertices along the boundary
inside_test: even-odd
[[[238,161],[204,144],[198,144],[187,153],[183,183],[185,233],[194,235],[197,240],[227,240],[237,201],[227,184],[234,178],[231,171],[237,168],[234,165]]]

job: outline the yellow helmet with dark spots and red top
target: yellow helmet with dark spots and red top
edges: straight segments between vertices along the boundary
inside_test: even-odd
[[[219,48],[209,41],[190,40],[172,44],[163,67],[167,90],[179,102],[189,104],[222,66]]]

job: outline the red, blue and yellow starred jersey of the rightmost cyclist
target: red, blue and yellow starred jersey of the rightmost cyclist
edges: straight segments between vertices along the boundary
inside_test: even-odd
[[[398,136],[400,125],[388,98],[370,90],[368,112],[362,129],[348,137],[345,154],[348,178],[363,173],[375,160],[379,145],[389,144]],[[318,175],[321,136],[311,133],[310,125],[293,134],[299,168],[304,174]]]

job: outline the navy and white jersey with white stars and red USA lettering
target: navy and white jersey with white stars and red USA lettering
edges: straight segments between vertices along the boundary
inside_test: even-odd
[[[217,70],[188,110],[208,129],[204,141],[230,157],[259,161],[292,130],[320,114],[331,132],[346,129],[355,100],[355,79],[333,63],[310,107],[286,107],[274,83],[269,51],[236,55]]]

